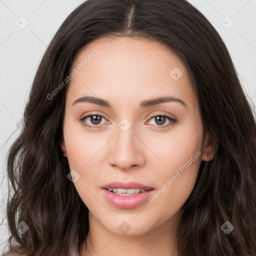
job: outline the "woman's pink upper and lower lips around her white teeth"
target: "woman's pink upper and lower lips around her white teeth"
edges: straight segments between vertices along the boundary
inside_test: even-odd
[[[152,187],[143,185],[141,183],[137,182],[111,182],[109,184],[106,184],[103,189],[103,194],[105,198],[115,207],[118,208],[134,208],[145,202],[148,197],[152,194],[154,189]],[[136,195],[118,195],[114,194],[113,192],[108,191],[108,188],[140,188],[145,189],[147,191],[140,192]]]

